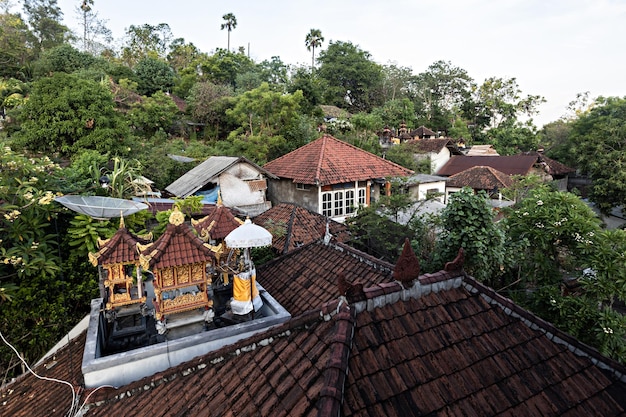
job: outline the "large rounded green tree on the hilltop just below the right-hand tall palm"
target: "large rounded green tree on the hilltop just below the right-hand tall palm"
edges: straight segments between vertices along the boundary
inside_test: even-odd
[[[369,52],[350,42],[331,42],[318,61],[318,75],[326,83],[326,104],[357,113],[382,103],[382,67],[371,60]]]

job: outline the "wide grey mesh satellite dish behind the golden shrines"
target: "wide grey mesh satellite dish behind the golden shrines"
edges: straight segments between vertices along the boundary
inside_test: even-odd
[[[122,198],[66,195],[56,197],[55,201],[77,213],[86,214],[97,220],[107,220],[112,217],[129,216],[148,208],[147,204]]]

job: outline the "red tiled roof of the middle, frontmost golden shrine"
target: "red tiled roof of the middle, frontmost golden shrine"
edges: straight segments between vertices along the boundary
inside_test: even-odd
[[[167,250],[169,246],[177,250]],[[169,223],[165,232],[141,253],[142,262],[149,265],[148,269],[162,269],[177,265],[190,265],[214,260],[211,249],[187,223],[175,225]],[[142,263],[143,265],[143,263]]]

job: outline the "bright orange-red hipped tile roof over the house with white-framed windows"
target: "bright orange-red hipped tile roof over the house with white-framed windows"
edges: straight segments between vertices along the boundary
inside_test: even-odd
[[[402,177],[413,172],[330,135],[274,159],[263,168],[296,183],[320,185]]]

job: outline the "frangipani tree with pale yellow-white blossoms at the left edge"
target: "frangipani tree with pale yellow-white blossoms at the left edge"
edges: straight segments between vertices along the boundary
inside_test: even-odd
[[[33,363],[88,313],[97,281],[85,269],[68,273],[61,258],[71,250],[60,240],[63,219],[54,203],[59,167],[1,146],[0,287],[12,291],[0,308],[0,331]],[[0,346],[0,372],[9,378],[17,376],[8,369],[12,355]]]

